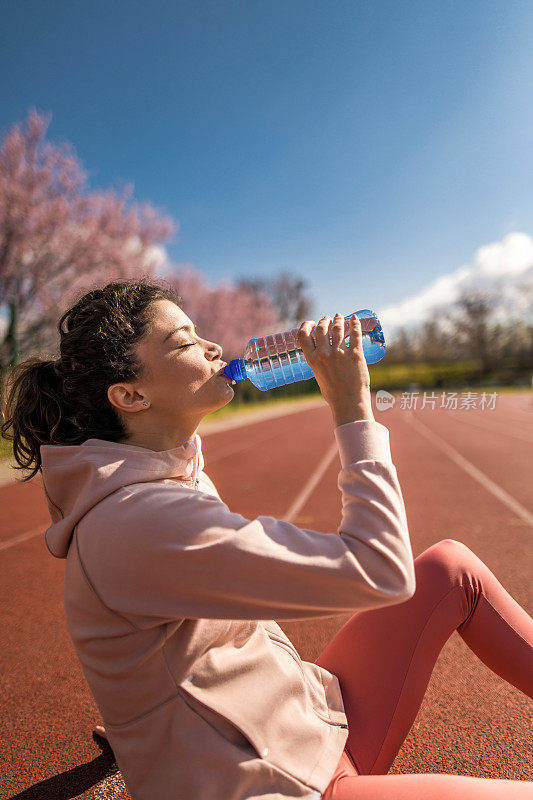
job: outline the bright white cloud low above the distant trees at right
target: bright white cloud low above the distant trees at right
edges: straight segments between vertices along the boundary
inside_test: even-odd
[[[515,312],[523,316],[533,305],[533,239],[509,233],[499,242],[483,245],[472,262],[441,275],[417,294],[378,316],[389,329],[418,324],[436,312],[447,311],[463,291],[486,292],[496,300],[495,318]]]

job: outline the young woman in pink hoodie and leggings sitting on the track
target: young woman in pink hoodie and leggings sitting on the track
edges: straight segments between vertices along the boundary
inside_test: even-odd
[[[233,397],[222,349],[149,282],[89,292],[60,358],[11,377],[3,434],[42,473],[68,629],[133,800],[490,800],[533,783],[387,775],[457,630],[533,694],[533,624],[467,547],[413,561],[361,328],[299,340],[339,448],[328,534],[248,520],[203,471],[197,428]],[[274,620],[353,612],[315,663]]]

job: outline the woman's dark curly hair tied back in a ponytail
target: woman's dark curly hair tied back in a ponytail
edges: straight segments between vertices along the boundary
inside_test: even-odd
[[[170,286],[148,279],[93,289],[59,320],[59,361],[32,357],[12,368],[0,430],[13,442],[15,469],[31,470],[23,481],[41,470],[43,444],[126,437],[107,390],[141,374],[134,345],[150,326],[156,300],[182,302]]]

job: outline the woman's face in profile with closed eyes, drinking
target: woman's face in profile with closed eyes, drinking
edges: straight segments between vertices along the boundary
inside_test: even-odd
[[[144,365],[135,382],[137,392],[149,401],[151,415],[162,424],[197,425],[234,396],[230,379],[219,375],[225,366],[222,347],[202,339],[192,320],[171,300],[157,300],[151,310],[152,325],[136,347]]]

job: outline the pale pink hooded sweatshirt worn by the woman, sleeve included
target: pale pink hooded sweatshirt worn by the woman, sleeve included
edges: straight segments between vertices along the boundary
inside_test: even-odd
[[[133,800],[325,791],[348,737],[339,682],[302,661],[272,618],[414,592],[387,428],[334,433],[342,522],[327,534],[230,511],[198,434],[163,452],[100,439],[41,447],[68,629]]]

